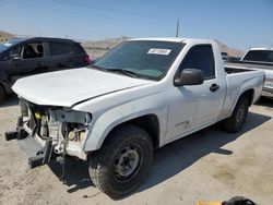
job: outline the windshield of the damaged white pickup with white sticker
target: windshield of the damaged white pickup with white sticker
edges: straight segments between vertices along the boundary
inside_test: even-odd
[[[107,52],[93,67],[133,77],[161,80],[183,44],[153,40],[126,41]]]

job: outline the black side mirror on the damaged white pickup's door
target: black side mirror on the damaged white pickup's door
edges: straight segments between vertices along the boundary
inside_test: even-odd
[[[204,73],[203,71],[197,69],[185,69],[182,70],[180,76],[175,79],[175,86],[183,86],[183,85],[200,85],[204,82]]]

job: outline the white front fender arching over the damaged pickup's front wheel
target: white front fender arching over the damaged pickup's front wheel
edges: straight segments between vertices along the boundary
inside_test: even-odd
[[[103,114],[94,114],[91,129],[86,135],[83,150],[99,149],[109,132],[117,125],[129,120],[146,116],[155,114],[159,121],[159,135],[166,134],[168,107],[165,100],[153,100],[150,97],[131,101],[115,107]]]

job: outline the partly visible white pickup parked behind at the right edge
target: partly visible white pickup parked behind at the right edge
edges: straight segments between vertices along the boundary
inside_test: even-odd
[[[227,62],[226,67],[264,71],[262,96],[273,98],[273,48],[251,48],[239,61]]]

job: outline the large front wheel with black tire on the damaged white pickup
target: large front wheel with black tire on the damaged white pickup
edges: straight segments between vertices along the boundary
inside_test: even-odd
[[[102,192],[119,198],[136,189],[147,176],[153,144],[149,134],[135,125],[123,125],[109,137],[97,153],[88,155],[88,171]]]

